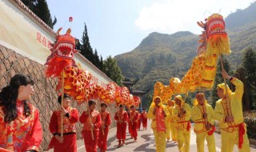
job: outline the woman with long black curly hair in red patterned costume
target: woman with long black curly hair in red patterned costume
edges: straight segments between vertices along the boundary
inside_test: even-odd
[[[42,142],[39,113],[26,100],[34,94],[34,81],[22,74],[10,79],[0,92],[0,151],[38,151]]]

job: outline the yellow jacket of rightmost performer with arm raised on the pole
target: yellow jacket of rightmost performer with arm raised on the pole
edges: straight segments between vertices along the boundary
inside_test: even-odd
[[[226,99],[221,98],[216,102],[213,118],[218,120],[220,124],[220,128],[223,130],[228,130],[229,126],[237,126],[244,122],[243,115],[242,115],[242,94],[243,94],[243,83],[238,80],[237,78],[234,78],[231,81],[235,88],[234,92],[231,92],[228,88],[229,98],[230,98],[230,107],[231,107],[231,114],[234,117],[234,122],[227,123],[225,122],[226,114],[224,111],[223,106],[226,107]],[[225,89],[224,89],[225,90]],[[225,91],[226,93],[226,91]],[[225,94],[224,93],[224,94]]]

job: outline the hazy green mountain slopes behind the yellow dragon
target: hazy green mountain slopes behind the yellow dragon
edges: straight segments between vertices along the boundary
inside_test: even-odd
[[[237,10],[226,20],[232,54],[226,58],[231,68],[242,63],[242,50],[256,46],[256,2],[245,10]],[[182,78],[196,56],[199,37],[189,31],[175,34],[149,34],[134,50],[114,58],[126,78],[139,78],[136,86],[152,89],[154,83],[169,84],[171,77]]]

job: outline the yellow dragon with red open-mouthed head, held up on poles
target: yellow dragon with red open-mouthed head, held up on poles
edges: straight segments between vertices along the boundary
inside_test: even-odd
[[[197,23],[203,29],[198,40],[201,45],[198,46],[198,54],[193,59],[190,69],[181,81],[179,78],[170,78],[169,87],[164,86],[162,82],[156,82],[154,86],[154,96],[160,96],[163,102],[170,99],[173,94],[193,92],[202,88],[211,89],[214,85],[219,55],[231,53],[222,15],[212,14],[205,22]]]

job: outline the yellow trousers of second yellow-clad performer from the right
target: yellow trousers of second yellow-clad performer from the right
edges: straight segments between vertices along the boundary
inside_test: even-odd
[[[207,131],[198,133],[197,135],[197,149],[198,152],[205,151],[205,140],[207,141],[208,152],[216,152],[214,134],[208,135]]]

